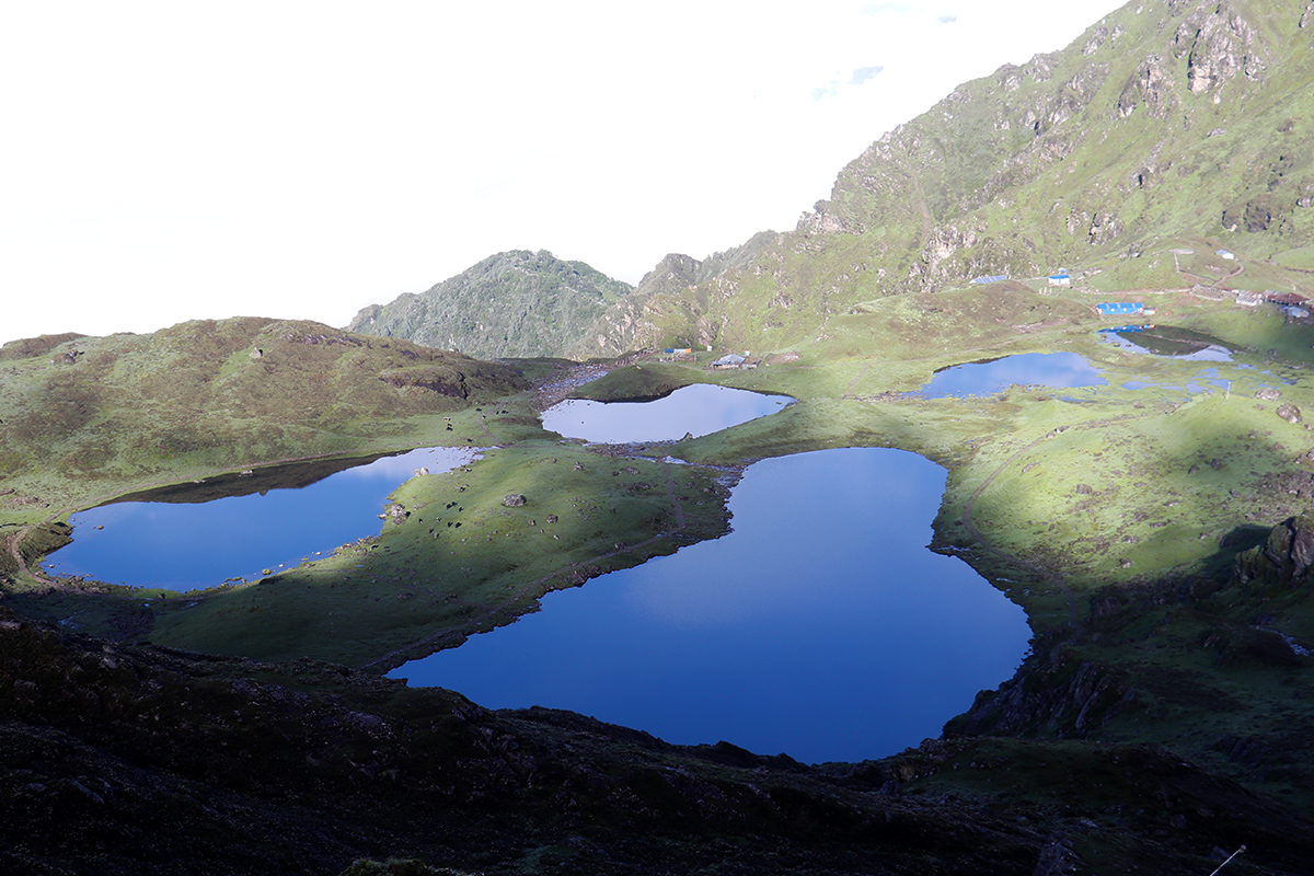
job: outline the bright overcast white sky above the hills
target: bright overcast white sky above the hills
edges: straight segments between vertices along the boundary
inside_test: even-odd
[[[0,341],[344,326],[512,248],[633,284],[1118,5],[7,3]]]

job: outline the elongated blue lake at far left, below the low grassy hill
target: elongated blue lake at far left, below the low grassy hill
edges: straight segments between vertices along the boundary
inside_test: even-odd
[[[193,590],[225,579],[256,579],[265,569],[378,535],[388,495],[427,468],[431,474],[469,462],[474,450],[423,448],[339,470],[298,489],[250,491],[273,470],[215,478],[160,491],[163,502],[116,502],[70,517],[74,542],[50,554],[50,574],[108,583]],[[296,468],[296,466],[280,466]],[[214,498],[213,490],[246,493]],[[141,494],[142,498],[151,494]],[[197,500],[200,495],[208,500]]]

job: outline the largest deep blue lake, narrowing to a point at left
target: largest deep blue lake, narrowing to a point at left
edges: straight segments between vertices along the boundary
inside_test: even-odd
[[[805,762],[900,751],[1008,679],[1030,637],[1020,607],[926,549],[943,486],[903,450],[763,460],[735,487],[731,535],[548,594],[390,675],[677,743]]]

